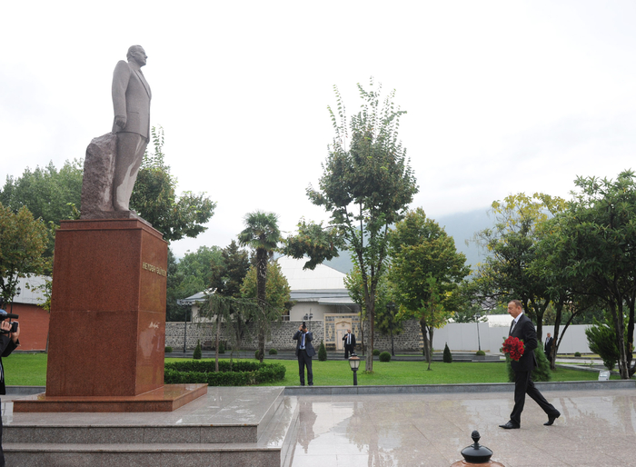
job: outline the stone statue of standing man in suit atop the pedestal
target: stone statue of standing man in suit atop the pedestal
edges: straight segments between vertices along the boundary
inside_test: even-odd
[[[129,211],[139,167],[144,159],[150,134],[150,86],[141,67],[146,59],[144,47],[131,45],[113,72],[113,133],[117,135],[117,157],[114,164],[113,208]]]

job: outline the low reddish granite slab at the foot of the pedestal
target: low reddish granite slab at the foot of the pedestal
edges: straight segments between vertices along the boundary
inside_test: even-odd
[[[47,396],[15,400],[14,412],[173,412],[207,393],[207,384],[166,384],[137,396]]]

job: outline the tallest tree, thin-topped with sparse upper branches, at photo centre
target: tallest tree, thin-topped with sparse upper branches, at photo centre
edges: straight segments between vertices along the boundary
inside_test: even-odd
[[[371,82],[373,88],[373,79]],[[402,219],[418,187],[406,150],[398,141],[400,117],[405,112],[393,104],[393,91],[380,103],[382,86],[358,90],[363,105],[350,122],[343,100],[335,88],[337,116],[329,107],[335,137],[323,164],[319,188],[307,189],[315,205],[331,215],[330,226],[305,223],[298,234],[288,238],[285,254],[294,258],[309,255],[305,268],[338,255],[338,248],[350,250],[362,274],[363,299],[369,321],[370,349],[373,352],[375,294],[387,259],[389,226]],[[351,133],[351,140],[348,141]],[[373,372],[373,359],[366,360]]]

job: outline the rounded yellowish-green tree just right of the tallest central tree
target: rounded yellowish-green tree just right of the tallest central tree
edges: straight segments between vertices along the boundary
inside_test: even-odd
[[[471,270],[452,237],[422,208],[410,211],[395,225],[391,260],[389,278],[401,306],[400,317],[419,320],[430,370],[434,329],[452,316],[453,293]]]

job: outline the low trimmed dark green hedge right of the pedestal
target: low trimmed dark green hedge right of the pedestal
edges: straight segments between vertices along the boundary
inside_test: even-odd
[[[283,381],[285,367],[281,363],[219,362],[218,373],[214,361],[165,363],[164,383],[207,383],[208,386],[247,386],[250,384]]]

